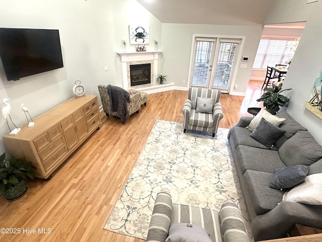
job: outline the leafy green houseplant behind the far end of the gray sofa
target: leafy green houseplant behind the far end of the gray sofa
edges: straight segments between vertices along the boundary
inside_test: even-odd
[[[281,89],[282,84],[276,87],[266,87],[264,88],[264,91],[266,92],[261,96],[261,98],[257,99],[257,101],[264,101],[263,105],[265,109],[270,113],[275,114],[278,110],[280,110],[280,106],[286,106],[289,101],[288,97],[280,93],[291,90],[291,88],[284,90]]]

